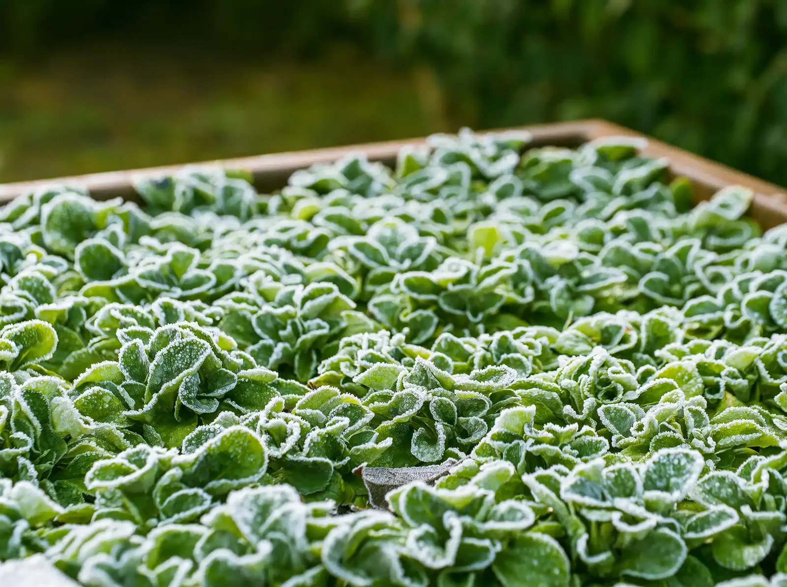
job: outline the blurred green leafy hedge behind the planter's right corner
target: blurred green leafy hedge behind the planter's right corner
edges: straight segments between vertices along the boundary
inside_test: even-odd
[[[784,0],[366,0],[475,127],[600,116],[787,183]]]

